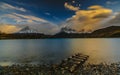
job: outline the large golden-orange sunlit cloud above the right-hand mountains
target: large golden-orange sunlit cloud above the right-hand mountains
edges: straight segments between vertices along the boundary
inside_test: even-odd
[[[99,5],[88,7],[87,10],[78,10],[65,25],[76,31],[90,32],[100,28],[101,24],[111,18],[112,10]]]

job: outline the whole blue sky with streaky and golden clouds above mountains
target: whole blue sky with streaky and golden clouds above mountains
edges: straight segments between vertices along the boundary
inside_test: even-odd
[[[0,0],[0,24],[11,30],[11,24],[36,24],[44,31],[63,25],[88,32],[106,26],[118,15],[119,7],[120,0]]]

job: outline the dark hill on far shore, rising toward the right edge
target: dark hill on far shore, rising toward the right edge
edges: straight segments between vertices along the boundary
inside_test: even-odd
[[[120,26],[110,26],[98,29],[92,33],[66,33],[61,31],[54,35],[57,38],[105,38],[120,37]]]

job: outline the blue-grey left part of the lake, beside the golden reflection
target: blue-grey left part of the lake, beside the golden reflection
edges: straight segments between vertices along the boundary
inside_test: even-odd
[[[56,63],[69,54],[65,39],[1,40],[0,61]]]

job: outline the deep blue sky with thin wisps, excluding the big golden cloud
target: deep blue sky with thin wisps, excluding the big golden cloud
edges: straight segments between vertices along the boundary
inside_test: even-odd
[[[24,21],[16,22],[16,20],[9,18],[11,17],[10,14],[12,14],[14,17],[15,15],[27,15],[59,24],[75,14],[75,11],[64,7],[65,2],[79,7],[81,10],[85,10],[92,5],[100,5],[113,10],[113,12],[120,11],[120,0],[0,0],[0,16],[7,14],[6,17],[1,18],[0,22],[13,24],[26,23]]]

